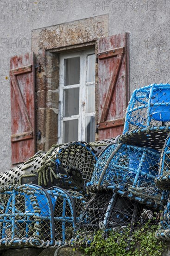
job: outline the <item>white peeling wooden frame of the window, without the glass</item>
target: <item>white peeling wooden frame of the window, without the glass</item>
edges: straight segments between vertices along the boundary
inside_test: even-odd
[[[86,94],[88,85],[94,85],[94,81],[87,82],[87,56],[95,54],[94,48],[71,52],[67,54],[60,54],[59,57],[59,115],[58,115],[58,143],[63,143],[63,121],[78,119],[78,141],[85,141],[86,126],[85,121],[87,116],[94,116],[95,112],[86,113]],[[64,60],[74,57],[80,57],[80,84],[64,86]],[[85,69],[86,68],[86,69]],[[79,88],[79,115],[72,115],[64,117],[63,91],[71,88]],[[95,101],[95,99],[94,99]],[[95,132],[95,131],[94,131]],[[69,142],[69,141],[68,141]]]

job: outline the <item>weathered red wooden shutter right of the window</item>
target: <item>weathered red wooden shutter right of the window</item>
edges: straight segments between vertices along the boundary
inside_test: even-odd
[[[117,34],[99,41],[98,54],[99,140],[123,131],[129,97],[129,34]]]

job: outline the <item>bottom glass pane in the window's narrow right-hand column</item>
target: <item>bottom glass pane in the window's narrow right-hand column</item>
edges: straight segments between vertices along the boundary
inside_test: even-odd
[[[86,117],[86,139],[87,142],[95,141],[95,117]]]

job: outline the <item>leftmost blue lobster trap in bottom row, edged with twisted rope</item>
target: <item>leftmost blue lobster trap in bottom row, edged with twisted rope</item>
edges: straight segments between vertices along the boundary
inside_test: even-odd
[[[54,245],[52,203],[44,189],[32,185],[2,186],[0,202],[1,247]]]

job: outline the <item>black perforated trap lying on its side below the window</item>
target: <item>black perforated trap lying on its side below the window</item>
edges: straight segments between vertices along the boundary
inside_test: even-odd
[[[85,193],[85,183],[90,180],[97,161],[95,154],[86,142],[53,145],[48,152],[39,151],[27,162],[2,173],[0,185],[33,183],[45,189],[57,185]]]

